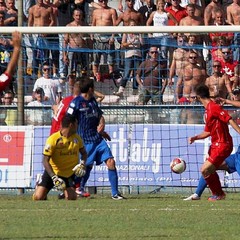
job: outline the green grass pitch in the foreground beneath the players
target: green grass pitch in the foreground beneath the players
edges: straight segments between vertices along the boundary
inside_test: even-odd
[[[239,239],[240,195],[183,201],[180,194],[93,195],[32,201],[0,195],[0,239]]]

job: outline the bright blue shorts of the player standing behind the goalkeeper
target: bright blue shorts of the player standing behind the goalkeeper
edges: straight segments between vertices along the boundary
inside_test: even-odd
[[[86,165],[100,165],[107,161],[109,158],[113,158],[112,152],[106,141],[103,139],[98,143],[85,143],[85,148],[88,154]]]

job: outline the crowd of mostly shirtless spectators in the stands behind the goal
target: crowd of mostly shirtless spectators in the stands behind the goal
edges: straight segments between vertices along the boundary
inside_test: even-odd
[[[24,25],[240,25],[239,0],[119,0],[118,9],[110,5],[108,0],[23,0]],[[0,26],[17,26],[18,14],[17,1],[0,0]],[[166,92],[173,93],[173,103],[195,104],[194,87],[204,82],[212,97],[235,99],[240,76],[239,36],[231,32],[25,34],[24,76],[32,81],[32,99],[41,88],[44,93],[40,102],[51,105],[68,95],[72,73],[88,74],[96,82],[104,82],[116,71],[122,72],[123,78],[109,95],[124,98],[127,83],[132,81],[131,94],[139,95],[135,104],[163,104],[166,88],[172,89]],[[3,71],[10,58],[11,41],[1,36],[0,46]],[[157,58],[151,61],[154,54]],[[144,79],[148,79],[147,87]],[[10,90],[15,94],[14,86]],[[151,101],[155,90],[160,97],[156,102]]]

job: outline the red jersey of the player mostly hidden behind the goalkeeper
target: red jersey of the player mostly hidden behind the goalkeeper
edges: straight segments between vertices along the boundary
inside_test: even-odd
[[[57,109],[57,115],[55,115],[52,119],[52,126],[50,130],[50,135],[60,130],[61,122],[63,117],[65,116],[68,107],[71,101],[74,99],[73,96],[65,97],[59,104]]]

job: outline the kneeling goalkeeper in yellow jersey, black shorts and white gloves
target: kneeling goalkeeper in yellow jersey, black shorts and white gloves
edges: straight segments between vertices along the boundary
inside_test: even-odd
[[[43,150],[45,170],[33,194],[33,200],[46,200],[53,187],[63,191],[65,199],[77,199],[74,177],[85,175],[87,159],[83,141],[76,133],[77,127],[75,117],[65,116],[62,119],[61,130],[48,137]],[[82,159],[80,162],[79,153]]]

